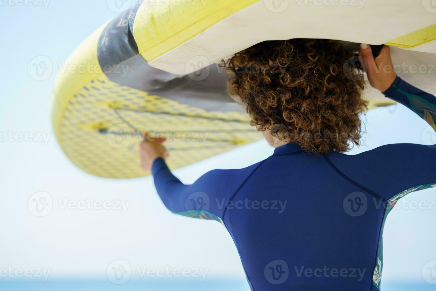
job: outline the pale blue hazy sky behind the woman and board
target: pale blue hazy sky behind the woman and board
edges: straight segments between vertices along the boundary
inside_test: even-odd
[[[87,35],[116,16],[118,8],[108,1],[0,2],[0,269],[44,268],[51,270],[51,278],[106,279],[112,262],[126,260],[139,269],[200,268],[208,270],[208,278],[244,281],[232,239],[219,223],[171,214],[150,177],[110,180],[86,174],[55,140],[50,109],[58,68],[37,81],[29,67],[41,56],[64,62]],[[364,145],[350,154],[390,143],[436,143],[427,124],[401,105],[373,110],[363,120]],[[271,153],[261,140],[175,174],[191,183],[211,169],[242,168]],[[38,217],[29,206],[31,198],[47,193],[51,212]],[[436,189],[414,193],[405,199],[428,206],[403,203],[389,214],[383,281],[423,281],[423,266],[436,259],[436,205],[430,206],[435,195]],[[115,201],[124,208],[65,206],[88,200]]]

